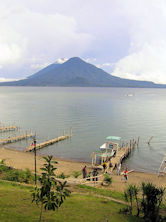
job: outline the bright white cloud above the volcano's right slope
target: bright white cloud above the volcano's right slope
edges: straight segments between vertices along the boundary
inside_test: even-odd
[[[112,74],[166,83],[166,1],[129,0],[127,5],[130,7],[124,6],[124,13],[130,20],[129,54],[116,63]]]

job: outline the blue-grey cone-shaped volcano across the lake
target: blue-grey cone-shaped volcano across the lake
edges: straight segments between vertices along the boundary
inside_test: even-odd
[[[73,57],[63,64],[51,64],[27,79],[1,83],[5,86],[98,86],[165,88],[166,85],[112,76],[104,70]]]

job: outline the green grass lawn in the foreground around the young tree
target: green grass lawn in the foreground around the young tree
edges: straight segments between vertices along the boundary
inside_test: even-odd
[[[38,221],[39,207],[32,203],[30,186],[0,182],[0,221]],[[61,208],[55,212],[44,212],[45,222],[139,222],[136,217],[119,214],[125,205],[93,195],[71,194]]]

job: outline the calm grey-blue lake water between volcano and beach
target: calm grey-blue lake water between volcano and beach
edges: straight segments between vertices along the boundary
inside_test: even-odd
[[[91,152],[98,150],[106,136],[121,136],[124,142],[140,136],[139,147],[125,164],[141,171],[156,172],[165,154],[165,110],[165,89],[0,87],[0,121],[4,124],[36,131],[38,142],[72,127],[71,140],[40,153],[90,161]],[[0,138],[14,134],[1,133]],[[31,141],[10,147],[23,150]]]

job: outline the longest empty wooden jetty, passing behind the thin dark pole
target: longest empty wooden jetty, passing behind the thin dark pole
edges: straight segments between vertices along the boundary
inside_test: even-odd
[[[52,145],[52,144],[54,144],[54,143],[57,143],[57,142],[59,142],[59,141],[69,139],[69,138],[71,138],[72,136],[73,136],[73,134],[72,134],[72,129],[70,129],[70,133],[69,133],[69,134],[65,135],[65,132],[63,132],[63,135],[62,135],[62,136],[59,136],[59,137],[54,138],[54,139],[46,140],[46,141],[44,141],[44,142],[42,142],[42,143],[36,144],[36,146],[34,146],[34,144],[31,144],[31,146],[27,147],[27,148],[24,150],[24,152],[31,152],[31,151],[33,151],[35,148],[36,148],[36,150],[39,150],[39,149],[42,149],[42,148],[44,148],[44,147],[46,147],[46,146],[50,146],[50,145]]]

